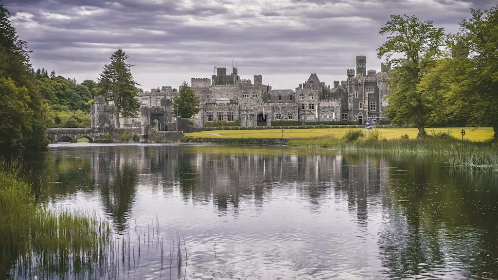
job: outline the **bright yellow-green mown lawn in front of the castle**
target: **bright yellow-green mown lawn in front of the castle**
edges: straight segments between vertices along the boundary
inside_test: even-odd
[[[472,141],[484,141],[493,136],[492,128],[464,128],[466,131],[464,139]],[[316,138],[333,137],[341,138],[349,129],[284,129],[283,138]],[[361,130],[361,129],[356,129]],[[398,139],[407,134],[410,139],[417,137],[417,129],[378,129],[381,136],[386,139]],[[434,128],[427,129],[428,134],[435,132],[451,132],[451,135],[461,139],[462,128]],[[185,136],[194,138],[281,138],[282,130],[218,130],[187,133]]]

